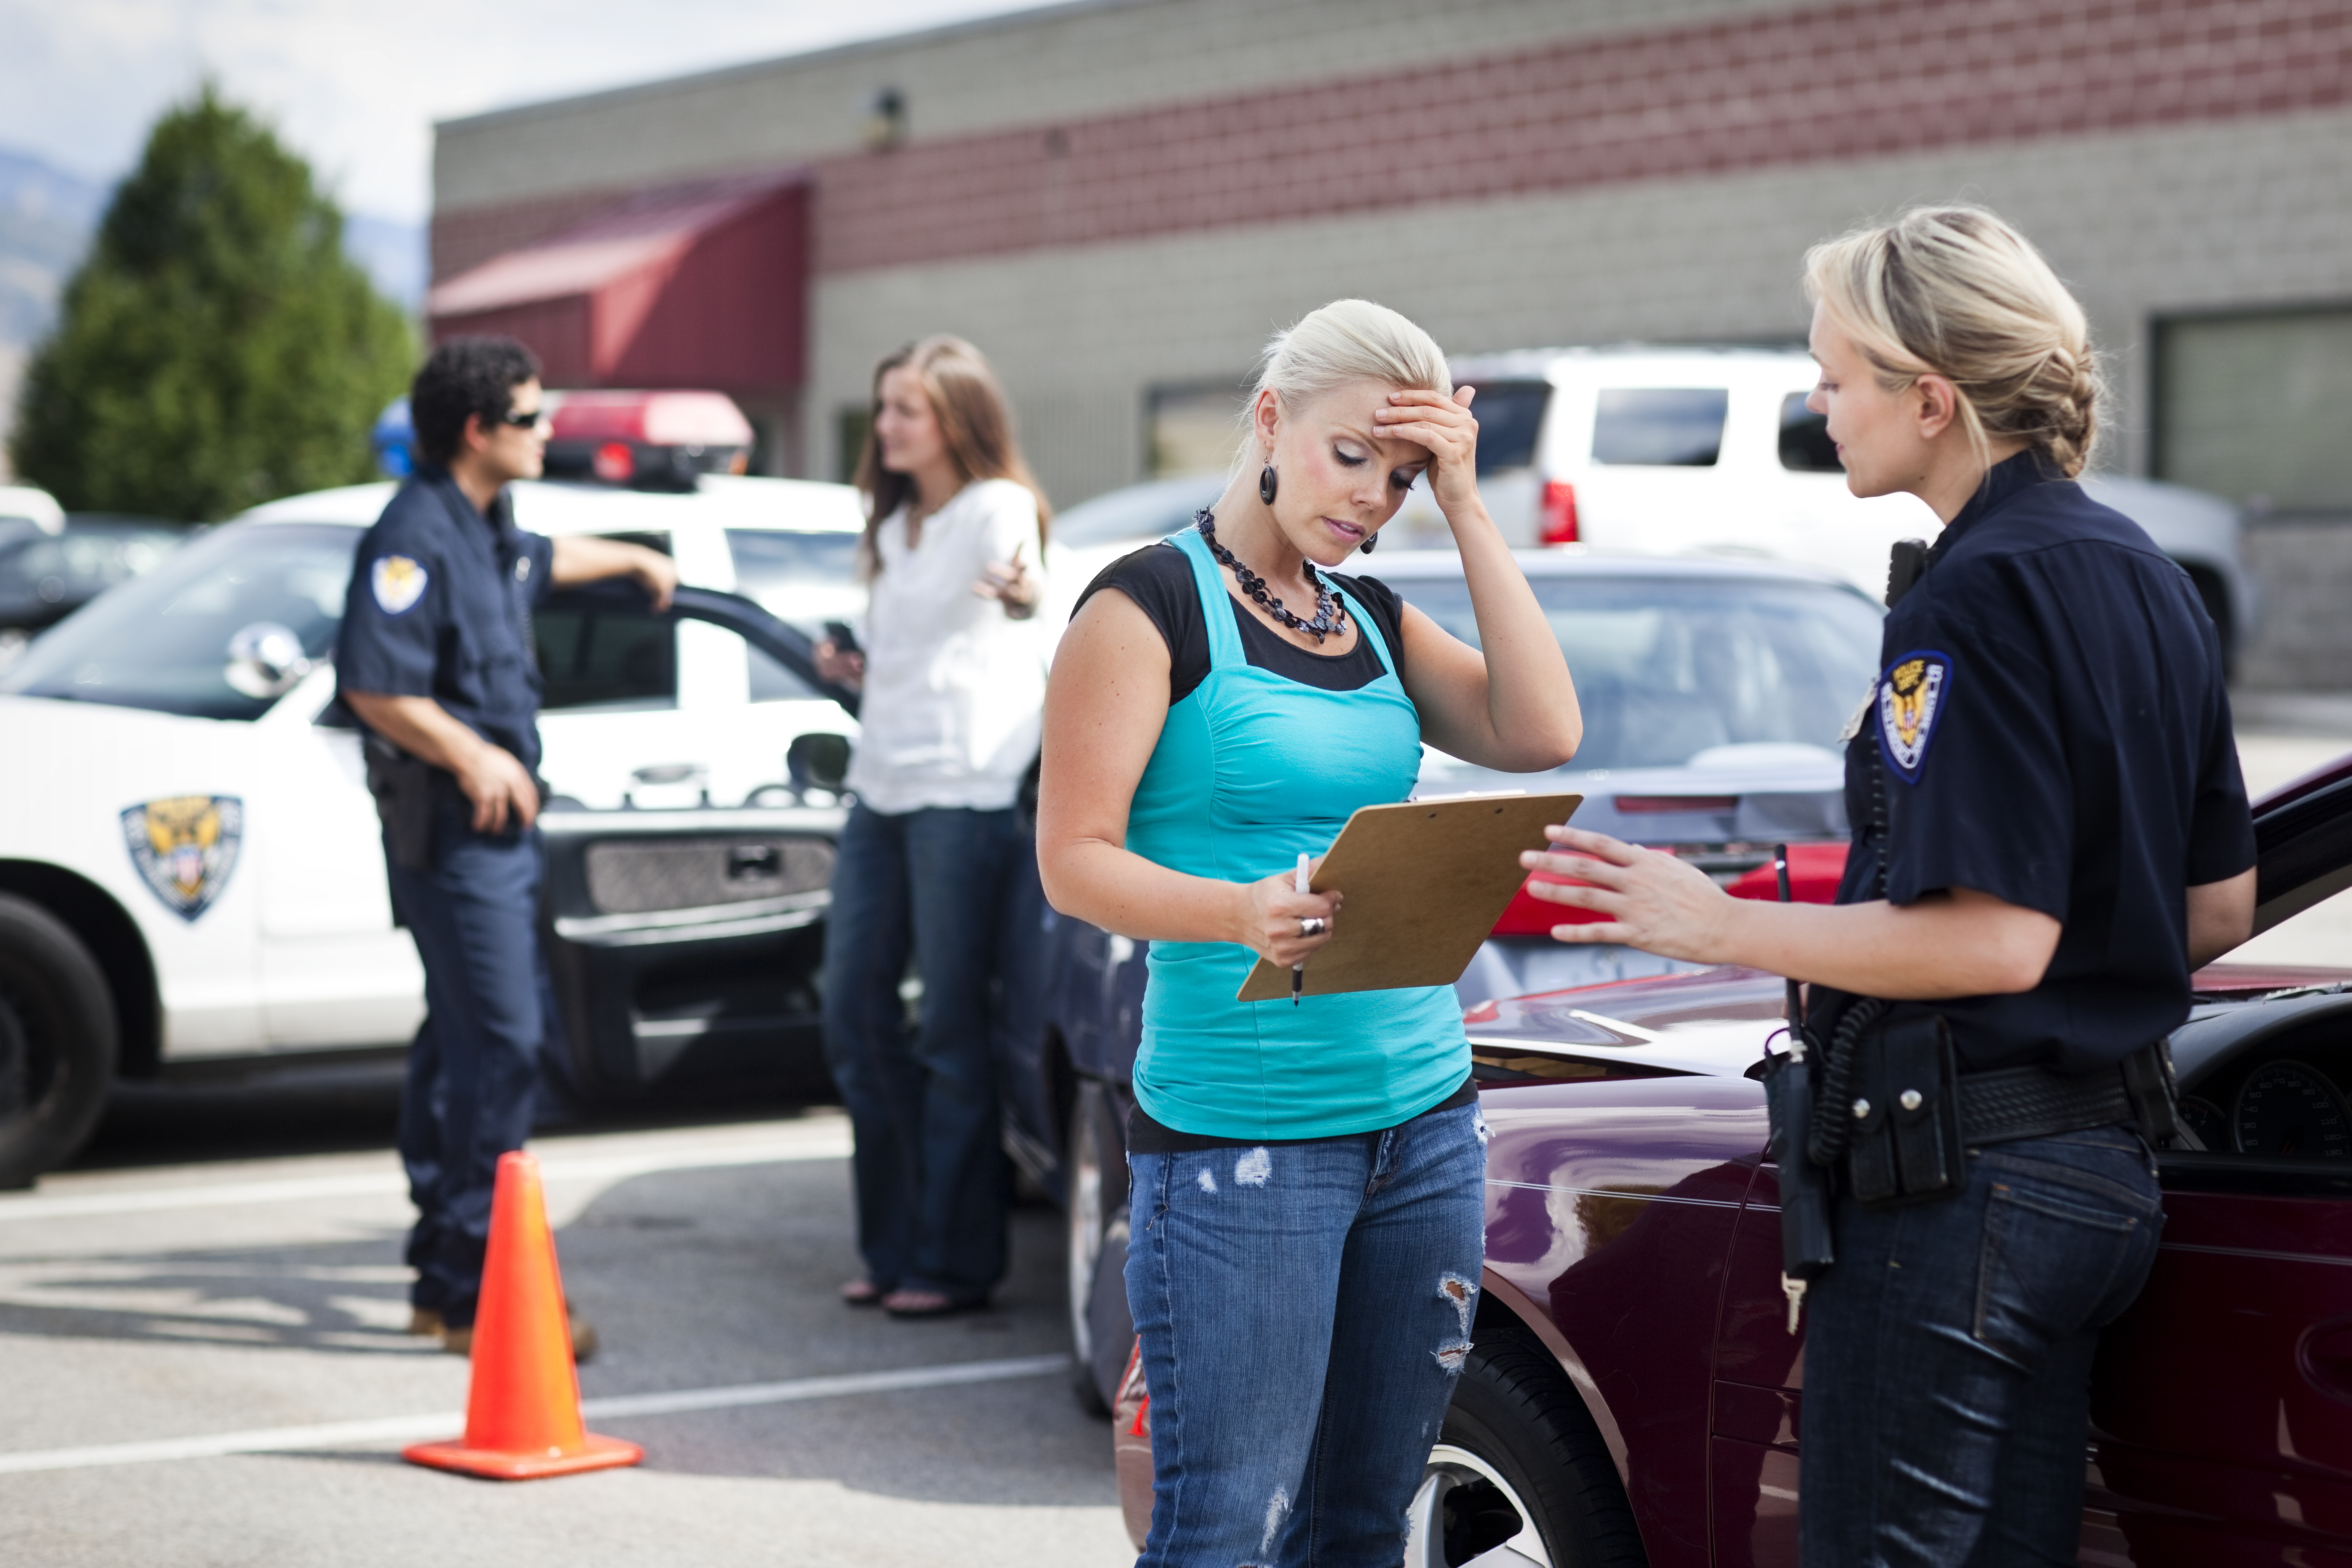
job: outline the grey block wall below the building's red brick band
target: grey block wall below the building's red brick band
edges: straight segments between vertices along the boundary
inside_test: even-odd
[[[960,331],[1068,503],[1141,475],[1152,386],[1237,378],[1327,299],[1381,299],[1458,353],[1802,339],[1811,242],[1955,197],[2009,214],[2077,284],[2117,390],[2103,463],[2126,473],[2152,317],[2352,301],[2352,110],[2319,110],[828,273],[807,407],[830,421],[877,355]],[[807,449],[828,447],[811,430]]]

